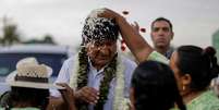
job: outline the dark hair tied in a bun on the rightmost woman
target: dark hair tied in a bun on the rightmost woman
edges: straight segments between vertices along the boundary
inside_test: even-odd
[[[177,52],[180,74],[190,74],[192,77],[191,90],[204,90],[218,75],[219,65],[212,47],[203,50],[196,46],[181,46]]]

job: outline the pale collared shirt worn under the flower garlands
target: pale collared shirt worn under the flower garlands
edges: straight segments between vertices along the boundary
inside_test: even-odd
[[[74,59],[75,57],[72,57],[70,59],[68,59],[63,65],[62,69],[59,73],[59,76],[57,78],[57,81],[54,83],[70,83],[70,77],[72,74],[73,69],[74,69],[74,61],[77,59]],[[122,64],[124,65],[125,70],[124,70],[124,77],[125,77],[125,85],[124,85],[124,97],[129,98],[130,97],[130,85],[131,85],[131,80],[132,80],[132,73],[134,71],[134,69],[136,68],[136,63],[124,58],[121,57],[121,61]],[[99,90],[99,86],[100,86],[100,81],[104,77],[104,68],[100,69],[99,71],[97,71],[90,63],[89,61],[89,71],[88,71],[88,84],[87,86],[89,87],[94,87],[97,90]],[[110,82],[110,89],[109,89],[109,94],[108,94],[108,100],[106,101],[105,106],[104,106],[104,110],[112,110],[113,107],[113,96],[114,96],[114,87],[115,87],[115,78],[113,78]],[[51,96],[53,97],[60,97],[60,93],[58,90],[50,90]],[[89,106],[89,110],[94,110],[93,106]]]

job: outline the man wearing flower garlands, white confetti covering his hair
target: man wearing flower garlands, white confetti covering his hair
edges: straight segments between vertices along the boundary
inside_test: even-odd
[[[122,110],[136,64],[117,51],[119,26],[96,13],[86,19],[82,48],[64,62],[56,83],[68,83],[75,90],[78,110]],[[51,90],[51,96],[60,94]]]

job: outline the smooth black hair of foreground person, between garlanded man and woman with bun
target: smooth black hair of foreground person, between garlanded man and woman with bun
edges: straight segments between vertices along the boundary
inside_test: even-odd
[[[133,73],[132,87],[136,110],[169,110],[174,102],[185,110],[173,72],[166,64],[155,61],[141,63]]]

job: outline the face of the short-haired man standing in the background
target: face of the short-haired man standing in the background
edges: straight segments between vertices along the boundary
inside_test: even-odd
[[[157,21],[151,27],[150,36],[156,48],[163,48],[169,47],[173,33],[168,22]]]

